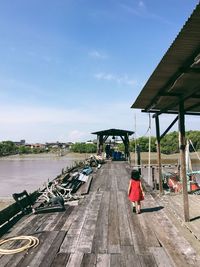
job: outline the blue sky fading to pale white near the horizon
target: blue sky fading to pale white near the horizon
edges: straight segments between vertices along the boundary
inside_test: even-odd
[[[198,2],[0,1],[0,141],[80,142],[110,128],[141,137],[149,124],[155,135],[130,107]],[[161,115],[161,133],[173,118]],[[186,130],[200,118],[186,117]]]

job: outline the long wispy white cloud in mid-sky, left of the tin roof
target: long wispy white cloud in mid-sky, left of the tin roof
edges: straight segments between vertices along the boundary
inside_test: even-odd
[[[130,79],[127,74],[115,75],[112,73],[99,72],[94,75],[97,80],[113,81],[118,84],[126,84],[134,86],[137,84],[136,80]]]

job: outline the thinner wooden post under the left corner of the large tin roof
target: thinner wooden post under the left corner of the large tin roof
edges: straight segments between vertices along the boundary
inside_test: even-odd
[[[160,124],[158,115],[155,116],[156,122],[156,139],[157,139],[157,162],[158,162],[158,181],[159,181],[159,194],[163,194],[163,183],[162,183],[162,165],[161,165],[161,151],[160,151]]]

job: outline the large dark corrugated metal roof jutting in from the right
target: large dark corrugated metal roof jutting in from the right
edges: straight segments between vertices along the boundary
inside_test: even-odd
[[[150,76],[132,108],[200,115],[200,4]]]

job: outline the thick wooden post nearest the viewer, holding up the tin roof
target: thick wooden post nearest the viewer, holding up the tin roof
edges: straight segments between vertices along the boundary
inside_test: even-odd
[[[186,162],[185,162],[185,116],[184,116],[184,102],[179,104],[179,146],[180,146],[180,176],[183,186],[183,205],[184,205],[184,219],[189,222],[189,201],[187,191],[187,176],[186,176]]]

